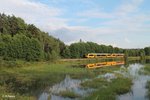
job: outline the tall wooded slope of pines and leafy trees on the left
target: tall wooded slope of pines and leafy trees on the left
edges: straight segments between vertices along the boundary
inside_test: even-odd
[[[0,57],[5,60],[54,60],[64,43],[15,16],[0,14]]]

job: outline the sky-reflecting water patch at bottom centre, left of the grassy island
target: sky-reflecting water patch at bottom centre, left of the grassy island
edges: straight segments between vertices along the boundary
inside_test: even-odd
[[[91,89],[83,89],[80,86],[80,83],[82,81],[78,79],[71,79],[70,76],[66,76],[66,78],[49,88],[47,92],[43,92],[38,100],[76,100],[77,98],[68,98],[68,97],[62,97],[62,92],[72,92],[78,96],[84,96],[88,92],[92,91]]]

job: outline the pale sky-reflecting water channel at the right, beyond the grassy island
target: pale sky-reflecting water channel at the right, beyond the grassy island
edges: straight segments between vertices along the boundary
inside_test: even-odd
[[[131,64],[125,75],[132,77],[133,85],[130,93],[120,95],[118,100],[147,100],[146,98],[146,83],[150,80],[150,76],[139,74],[139,70],[143,67],[142,64]]]

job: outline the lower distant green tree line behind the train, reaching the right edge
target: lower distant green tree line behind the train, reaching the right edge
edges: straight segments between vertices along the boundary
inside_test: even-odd
[[[66,46],[63,52],[64,58],[83,58],[87,53],[124,53],[128,57],[150,56],[150,47],[144,49],[122,49],[111,45],[99,45],[94,42],[77,42]]]

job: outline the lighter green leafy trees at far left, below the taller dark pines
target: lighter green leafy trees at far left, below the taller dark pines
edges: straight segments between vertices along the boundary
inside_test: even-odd
[[[40,60],[42,58],[42,47],[35,38],[28,38],[24,35],[1,35],[0,55],[5,60],[11,58]]]

